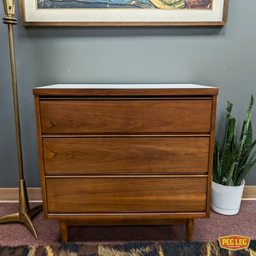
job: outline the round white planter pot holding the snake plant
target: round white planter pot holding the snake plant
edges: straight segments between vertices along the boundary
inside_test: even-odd
[[[244,180],[240,186],[224,186],[212,182],[212,210],[224,215],[237,214],[240,209],[244,184]]]

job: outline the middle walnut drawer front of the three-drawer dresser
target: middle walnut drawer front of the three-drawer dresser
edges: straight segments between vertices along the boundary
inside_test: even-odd
[[[47,175],[207,173],[209,137],[44,138]]]

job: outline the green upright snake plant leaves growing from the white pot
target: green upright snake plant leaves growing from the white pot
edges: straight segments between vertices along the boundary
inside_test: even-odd
[[[232,102],[227,101],[227,118],[225,136],[222,145],[215,138],[213,181],[225,186],[240,186],[242,180],[256,162],[256,151],[253,149],[253,128],[251,125],[251,110],[253,96],[246,112],[240,139],[236,136],[236,119],[231,116]]]

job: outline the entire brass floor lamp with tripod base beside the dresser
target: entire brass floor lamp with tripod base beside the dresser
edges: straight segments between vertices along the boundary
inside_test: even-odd
[[[10,59],[11,59],[11,71],[12,71],[12,91],[14,98],[14,117],[16,127],[16,142],[17,142],[17,153],[18,153],[18,174],[19,174],[19,212],[15,214],[9,214],[0,218],[0,223],[13,223],[19,222],[24,223],[28,229],[33,233],[33,236],[38,239],[38,235],[33,227],[31,218],[42,211],[42,205],[38,205],[35,208],[29,208],[29,199],[27,196],[27,187],[23,176],[23,156],[21,151],[21,140],[20,140],[20,119],[18,110],[18,91],[17,91],[17,79],[16,79],[16,65],[15,65],[15,54],[14,54],[14,35],[13,25],[17,24],[14,16],[14,1],[15,0],[3,0],[3,7],[5,10],[6,18],[3,18],[3,23],[8,25],[9,44],[10,44]]]

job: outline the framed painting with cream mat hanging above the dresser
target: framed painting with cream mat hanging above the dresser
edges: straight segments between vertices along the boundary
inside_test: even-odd
[[[225,25],[228,0],[19,0],[26,26]]]

